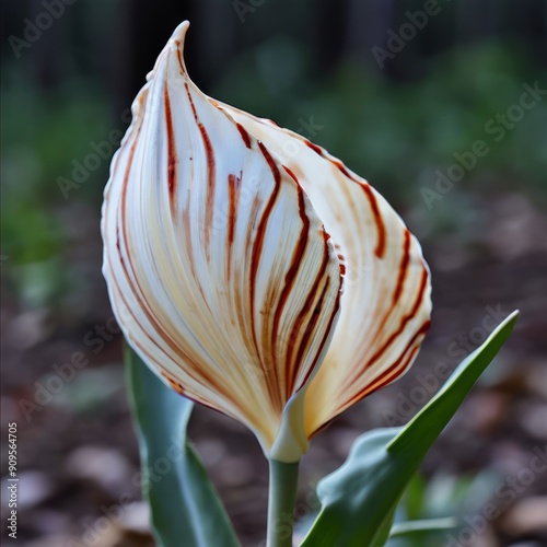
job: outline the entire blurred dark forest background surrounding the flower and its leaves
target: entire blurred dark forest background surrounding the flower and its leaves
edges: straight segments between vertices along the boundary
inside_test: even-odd
[[[519,307],[513,337],[401,511],[461,516],[452,536],[416,545],[547,545],[547,470],[533,465],[547,463],[545,0],[4,0],[2,537],[15,421],[14,545],[153,545],[98,222],[128,107],[185,19],[196,83],[366,177],[420,238],[433,274],[433,325],[417,364],[314,441],[301,522],[317,510],[314,485],[360,432],[405,422],[443,364]],[[205,409],[190,434],[244,545],[261,545],[267,475],[255,440]],[[133,502],[113,512],[123,496]]]

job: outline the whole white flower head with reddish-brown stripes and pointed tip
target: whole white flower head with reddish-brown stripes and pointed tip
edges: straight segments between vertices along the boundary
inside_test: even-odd
[[[303,137],[211,100],[175,31],[113,160],[104,275],[131,347],[265,454],[309,439],[412,363],[420,246],[364,179]],[[344,291],[342,291],[344,286]]]

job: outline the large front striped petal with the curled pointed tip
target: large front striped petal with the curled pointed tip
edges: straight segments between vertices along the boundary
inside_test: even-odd
[[[187,27],[160,55],[113,161],[104,276],[128,342],[165,383],[293,462],[340,264],[294,173],[189,80]]]

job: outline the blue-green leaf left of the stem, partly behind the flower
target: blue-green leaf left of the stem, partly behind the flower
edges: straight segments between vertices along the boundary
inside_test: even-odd
[[[129,347],[128,386],[137,423],[142,492],[161,547],[240,545],[186,427],[193,403],[165,386]]]

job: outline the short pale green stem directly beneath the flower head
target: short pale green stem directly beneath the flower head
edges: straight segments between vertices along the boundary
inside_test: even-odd
[[[299,462],[269,461],[268,547],[292,547]]]

